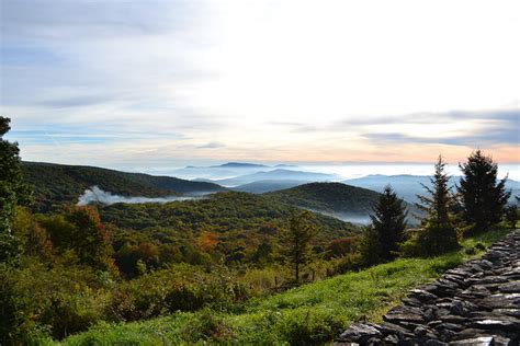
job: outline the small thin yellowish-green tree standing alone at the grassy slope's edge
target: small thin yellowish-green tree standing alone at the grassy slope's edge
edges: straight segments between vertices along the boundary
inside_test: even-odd
[[[318,234],[318,230],[309,222],[309,217],[308,211],[294,212],[284,234],[284,254],[293,267],[296,284],[299,281],[301,268],[312,260],[310,242]]]

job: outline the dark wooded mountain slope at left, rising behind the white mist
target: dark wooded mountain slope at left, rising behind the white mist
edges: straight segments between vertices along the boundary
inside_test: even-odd
[[[123,196],[160,197],[179,194],[218,192],[225,188],[212,183],[184,181],[114,170],[23,162],[24,178],[34,186],[36,209],[48,210],[53,204],[76,203],[93,185]]]

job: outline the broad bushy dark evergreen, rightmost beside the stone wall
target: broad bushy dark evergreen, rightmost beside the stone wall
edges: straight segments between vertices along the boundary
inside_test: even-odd
[[[459,186],[463,217],[473,232],[482,232],[500,221],[511,195],[506,180],[497,181],[498,166],[481,150],[473,152],[467,162],[459,164],[462,173]]]

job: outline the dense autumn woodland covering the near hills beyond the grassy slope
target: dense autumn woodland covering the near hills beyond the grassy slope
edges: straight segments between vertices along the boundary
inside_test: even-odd
[[[8,118],[0,117],[0,129],[9,131]],[[515,227],[517,219],[496,163],[481,151],[461,164],[455,188],[438,159],[416,228],[391,186],[377,194],[315,183],[265,195],[80,207],[78,196],[92,185],[126,196],[222,188],[95,168],[22,165],[16,145],[3,138],[0,157],[0,344],[63,339],[102,321],[239,311],[253,298],[309,281],[456,251],[467,234],[502,220]],[[372,222],[361,229],[299,207],[370,207]]]

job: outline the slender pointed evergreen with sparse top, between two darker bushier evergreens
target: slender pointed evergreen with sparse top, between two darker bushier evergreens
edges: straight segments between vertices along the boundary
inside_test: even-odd
[[[427,212],[422,229],[417,235],[418,252],[421,255],[437,255],[459,247],[455,227],[450,217],[452,196],[444,172],[445,162],[442,157],[436,163],[436,172],[431,178],[431,187],[422,185],[428,196],[418,196],[418,207]]]

